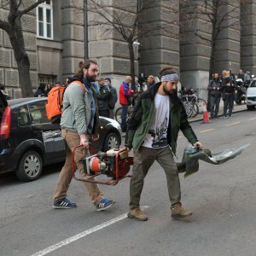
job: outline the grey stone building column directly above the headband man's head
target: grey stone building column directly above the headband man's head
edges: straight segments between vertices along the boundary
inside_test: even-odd
[[[148,32],[139,37],[140,73],[159,77],[160,69],[166,64],[179,72],[178,6],[177,0],[145,1],[143,26],[148,27]],[[152,30],[152,27],[156,29]]]

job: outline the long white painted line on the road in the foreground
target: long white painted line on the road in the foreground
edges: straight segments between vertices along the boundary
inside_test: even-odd
[[[141,207],[141,208],[142,209],[147,209],[149,207],[145,206],[145,207]],[[96,232],[98,230],[102,230],[102,229],[110,226],[111,224],[115,224],[115,223],[117,223],[120,220],[125,219],[125,218],[127,218],[127,212],[122,214],[122,215],[120,215],[120,216],[118,216],[118,217],[116,217],[116,218],[112,218],[112,219],[110,219],[110,220],[108,220],[108,221],[106,221],[106,222],[104,222],[102,224],[99,224],[99,225],[91,228],[90,230],[84,230],[83,232],[81,232],[81,233],[79,233],[79,234],[77,234],[75,236],[70,236],[70,237],[68,237],[65,240],[62,240],[62,241],[60,241],[58,243],[55,243],[54,245],[52,245],[50,247],[45,248],[42,251],[39,251],[38,253],[32,254],[32,256],[44,256],[44,255],[46,255],[46,254],[48,254],[50,252],[55,251],[56,249],[58,249],[60,247],[66,246],[67,244],[69,244],[69,243],[71,243],[73,241],[77,241],[80,238],[83,238],[84,236],[89,236],[90,234],[92,234],[92,233],[94,233],[94,232]]]

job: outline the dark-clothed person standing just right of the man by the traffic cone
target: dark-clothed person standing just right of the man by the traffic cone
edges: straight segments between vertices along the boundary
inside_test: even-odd
[[[232,110],[234,106],[235,100],[235,90],[236,90],[236,83],[230,76],[227,76],[224,79],[222,84],[223,86],[223,96],[224,96],[224,118],[231,118],[232,117]]]

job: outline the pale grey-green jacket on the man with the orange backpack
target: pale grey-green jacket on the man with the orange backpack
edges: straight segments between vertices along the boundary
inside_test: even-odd
[[[85,88],[85,86],[84,86]],[[96,90],[90,84],[96,102]],[[81,85],[73,82],[67,86],[63,98],[63,113],[61,115],[61,129],[76,131],[81,134],[87,133],[87,126],[90,123],[90,93]],[[94,117],[93,134],[98,134],[99,113],[96,102],[96,114]]]

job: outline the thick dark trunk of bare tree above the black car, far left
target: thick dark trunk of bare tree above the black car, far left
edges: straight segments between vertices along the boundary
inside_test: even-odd
[[[44,0],[38,0],[27,6],[24,0],[6,1],[6,5],[9,5],[8,18],[7,20],[0,19],[0,28],[7,32],[10,44],[14,49],[15,61],[18,66],[21,94],[23,97],[32,96],[32,83],[29,73],[30,61],[26,54],[21,17],[43,2]]]

